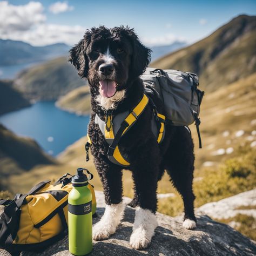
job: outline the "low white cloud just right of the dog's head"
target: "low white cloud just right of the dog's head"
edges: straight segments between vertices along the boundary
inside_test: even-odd
[[[168,33],[159,37],[143,37],[142,42],[148,46],[156,46],[156,45],[168,45],[174,43],[175,41],[186,41],[184,37],[177,37],[171,33]]]

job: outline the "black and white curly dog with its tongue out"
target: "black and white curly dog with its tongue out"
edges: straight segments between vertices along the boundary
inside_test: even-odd
[[[92,140],[91,152],[102,181],[106,209],[102,219],[93,226],[93,239],[109,238],[116,232],[124,214],[122,203],[122,169],[107,159],[106,143],[95,114],[104,120],[104,111],[124,112],[136,106],[143,97],[144,85],[139,76],[150,62],[151,50],[140,43],[133,29],[124,26],[107,29],[105,26],[87,30],[83,39],[70,50],[70,62],[78,74],[87,78],[91,92],[91,119],[88,133]],[[163,113],[159,102],[155,104]],[[119,142],[130,160],[129,170],[134,181],[137,206],[130,245],[146,248],[157,227],[157,182],[164,171],[170,175],[184,201],[183,226],[196,227],[192,180],[194,170],[193,142],[190,132],[183,126],[167,126],[165,139],[158,145],[151,131],[150,105]]]

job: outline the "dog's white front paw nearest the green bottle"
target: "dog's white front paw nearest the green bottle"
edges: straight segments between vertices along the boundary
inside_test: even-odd
[[[104,240],[116,232],[117,226],[123,218],[124,204],[106,205],[102,219],[92,228],[92,237],[94,240]]]

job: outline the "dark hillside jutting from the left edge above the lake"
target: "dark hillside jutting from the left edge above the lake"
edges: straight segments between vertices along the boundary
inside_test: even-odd
[[[0,114],[8,113],[30,106],[20,92],[18,92],[10,80],[0,80]]]

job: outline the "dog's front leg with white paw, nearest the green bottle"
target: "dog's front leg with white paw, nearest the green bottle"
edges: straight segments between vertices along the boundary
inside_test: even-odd
[[[104,215],[93,226],[93,239],[103,240],[116,232],[123,218],[124,204],[122,203],[122,168],[103,159],[95,158],[96,169],[102,181],[106,208]]]

